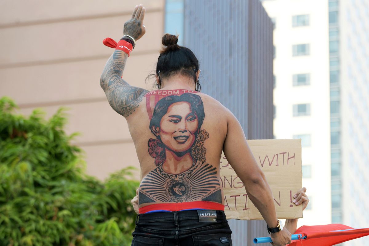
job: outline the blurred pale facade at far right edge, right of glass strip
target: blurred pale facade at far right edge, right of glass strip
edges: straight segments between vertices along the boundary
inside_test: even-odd
[[[330,13],[336,12],[339,61],[337,91],[339,92],[337,145],[341,152],[341,173],[332,182],[333,206],[341,212],[342,222],[354,228],[369,227],[369,1],[330,1]],[[334,15],[333,15],[334,16]],[[330,43],[331,45],[331,43]],[[332,76],[331,76],[332,79]],[[332,80],[331,80],[332,82]],[[331,83],[332,85],[332,83]],[[331,89],[331,96],[334,90]],[[338,93],[336,93],[338,94]],[[331,104],[332,112],[332,104]],[[332,175],[333,181],[333,175]],[[341,194],[339,192],[341,191]],[[335,193],[334,193],[335,192]],[[333,204],[334,195],[337,196]],[[340,215],[340,214],[338,214]],[[332,214],[332,219],[334,214]],[[367,245],[368,238],[345,245]]]

